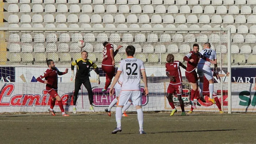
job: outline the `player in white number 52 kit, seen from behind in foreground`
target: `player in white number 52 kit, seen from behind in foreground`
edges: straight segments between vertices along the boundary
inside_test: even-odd
[[[129,99],[132,100],[133,105],[136,106],[137,116],[138,116],[138,123],[140,126],[140,134],[146,134],[143,130],[143,112],[142,112],[142,95],[141,95],[141,87],[140,87],[140,80],[141,80],[141,73],[143,76],[144,92],[145,95],[148,95],[148,82],[147,76],[145,72],[145,67],[143,62],[140,59],[134,58],[133,55],[135,54],[135,47],[132,45],[128,45],[125,49],[127,54],[127,58],[121,60],[119,62],[118,72],[116,73],[115,79],[113,84],[110,88],[110,96],[114,94],[114,85],[118,82],[118,79],[123,73],[123,83],[121,92],[119,95],[118,102],[116,104],[116,123],[117,127],[112,134],[116,134],[117,132],[121,132],[121,118],[122,118],[122,108],[124,105],[127,104]]]

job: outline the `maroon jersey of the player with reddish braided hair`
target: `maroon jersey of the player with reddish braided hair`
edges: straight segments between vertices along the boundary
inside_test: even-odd
[[[180,61],[174,61],[173,63],[166,63],[165,68],[171,76],[174,76],[174,81],[170,81],[170,84],[180,84],[182,83],[182,75],[180,72]]]

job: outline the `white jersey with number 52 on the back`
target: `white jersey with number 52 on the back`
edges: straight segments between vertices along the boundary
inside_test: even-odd
[[[140,90],[141,70],[145,69],[140,59],[128,57],[119,62],[118,71],[123,72],[122,90]]]

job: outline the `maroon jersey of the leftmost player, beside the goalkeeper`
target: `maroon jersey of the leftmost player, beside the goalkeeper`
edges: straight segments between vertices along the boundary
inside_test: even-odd
[[[47,69],[42,75],[37,78],[38,82],[44,83],[44,80],[47,80],[48,83],[46,84],[46,90],[50,91],[52,89],[58,89],[58,76],[63,75],[65,72],[60,72],[57,67],[55,69]],[[42,80],[44,78],[44,80]]]

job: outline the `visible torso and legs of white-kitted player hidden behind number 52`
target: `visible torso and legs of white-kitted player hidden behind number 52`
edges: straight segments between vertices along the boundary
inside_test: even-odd
[[[116,93],[116,98],[114,100],[112,100],[111,104],[108,106],[107,109],[105,109],[105,112],[107,112],[108,116],[111,117],[111,108],[116,104],[116,102],[118,101],[118,97],[121,91],[121,87],[122,87],[122,83],[123,83],[123,73],[121,73],[118,82],[115,84],[114,88],[115,88],[115,93]],[[123,117],[128,117],[128,115],[125,113],[125,110],[127,110],[132,104],[132,101],[129,100],[127,102],[127,104],[122,108],[122,113],[123,113]]]

